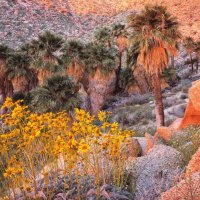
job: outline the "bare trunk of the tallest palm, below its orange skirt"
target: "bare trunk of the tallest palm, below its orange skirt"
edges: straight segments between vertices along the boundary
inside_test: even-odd
[[[154,74],[153,80],[153,94],[155,98],[155,112],[157,127],[164,126],[164,106],[162,101],[162,91],[159,75]]]

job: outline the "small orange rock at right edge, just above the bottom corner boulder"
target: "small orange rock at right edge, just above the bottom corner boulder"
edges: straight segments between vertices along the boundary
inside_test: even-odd
[[[190,177],[195,172],[200,172],[200,148],[192,156],[192,159],[188,163],[188,166],[186,167],[186,176]]]

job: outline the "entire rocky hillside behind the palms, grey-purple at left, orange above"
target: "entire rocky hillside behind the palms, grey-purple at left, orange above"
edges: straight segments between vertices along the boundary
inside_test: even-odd
[[[0,42],[18,46],[43,30],[88,38],[96,28],[123,21],[149,0],[0,0]],[[185,36],[200,38],[199,0],[156,0],[176,16]]]

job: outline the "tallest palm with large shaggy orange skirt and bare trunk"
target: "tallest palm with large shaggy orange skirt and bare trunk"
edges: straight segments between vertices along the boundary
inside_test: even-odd
[[[140,14],[129,17],[129,26],[140,42],[138,65],[152,77],[157,127],[164,125],[160,74],[168,67],[169,54],[176,52],[174,39],[179,37],[178,23],[163,6],[146,6]]]

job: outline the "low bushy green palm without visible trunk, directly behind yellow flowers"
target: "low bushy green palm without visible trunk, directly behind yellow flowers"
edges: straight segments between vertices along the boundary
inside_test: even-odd
[[[79,87],[68,76],[55,75],[32,92],[31,108],[38,113],[73,111],[80,106]]]

